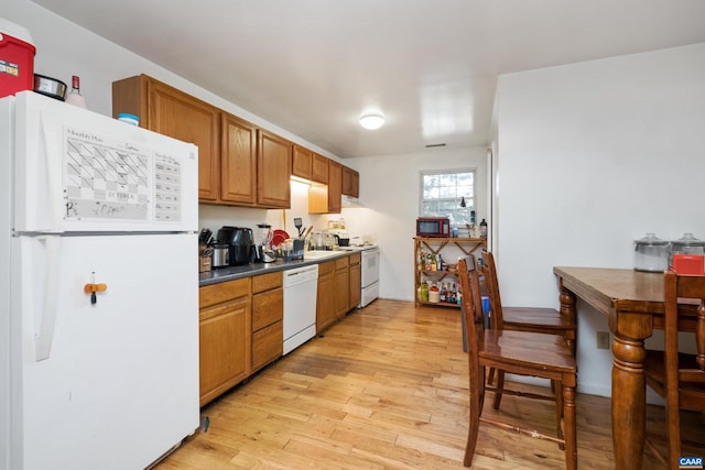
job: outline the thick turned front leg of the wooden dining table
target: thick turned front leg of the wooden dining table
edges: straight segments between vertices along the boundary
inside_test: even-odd
[[[649,316],[612,313],[612,445],[615,468],[641,469],[647,394],[643,338],[651,335]]]

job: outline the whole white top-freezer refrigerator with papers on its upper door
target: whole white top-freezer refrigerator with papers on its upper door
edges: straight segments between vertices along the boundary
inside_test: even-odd
[[[197,429],[197,163],[0,99],[0,469],[141,469]]]

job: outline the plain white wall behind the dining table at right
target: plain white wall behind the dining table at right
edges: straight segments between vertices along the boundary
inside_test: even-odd
[[[498,269],[558,305],[554,265],[633,266],[646,232],[705,239],[705,44],[500,77]],[[578,386],[610,393],[606,318],[578,304]]]

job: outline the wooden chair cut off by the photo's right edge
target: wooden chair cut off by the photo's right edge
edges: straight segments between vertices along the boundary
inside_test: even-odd
[[[679,297],[692,299],[697,307],[696,354],[679,352]],[[647,447],[669,469],[679,468],[681,457],[680,409],[705,411],[705,276],[664,274],[664,350],[647,350],[647,384],[665,398],[668,461],[647,439]],[[684,335],[681,332],[681,335]],[[692,335],[692,334],[691,334]]]

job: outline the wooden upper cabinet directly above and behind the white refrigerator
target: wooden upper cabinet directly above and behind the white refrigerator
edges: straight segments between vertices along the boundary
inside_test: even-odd
[[[130,112],[140,127],[198,145],[198,198],[218,200],[220,110],[147,75],[112,84],[112,114]]]

